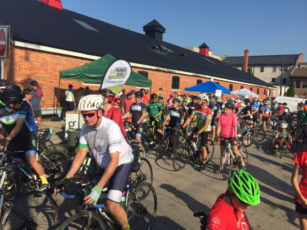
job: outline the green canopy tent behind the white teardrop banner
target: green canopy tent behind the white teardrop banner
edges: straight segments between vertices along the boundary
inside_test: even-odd
[[[56,107],[58,105],[58,100],[59,100],[61,79],[84,81],[86,83],[100,84],[101,81],[103,80],[105,72],[107,71],[107,68],[114,61],[116,61],[116,58],[114,58],[111,54],[107,54],[90,63],[86,63],[84,65],[81,65],[75,68],[71,68],[69,70],[61,71]],[[125,85],[133,85],[133,86],[138,86],[138,87],[150,88],[151,80],[143,77],[142,75],[134,71],[131,71],[129,78],[125,82]],[[56,113],[54,112],[54,114]]]

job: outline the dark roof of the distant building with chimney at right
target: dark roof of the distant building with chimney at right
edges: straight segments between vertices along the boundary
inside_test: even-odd
[[[281,65],[283,57],[284,65],[295,65],[299,54],[290,55],[265,55],[265,56],[249,56],[248,65]],[[244,56],[242,57],[226,57],[223,62],[230,65],[243,65]]]

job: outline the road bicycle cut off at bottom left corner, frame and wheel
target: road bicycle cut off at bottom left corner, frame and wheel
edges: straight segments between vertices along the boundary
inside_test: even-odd
[[[9,186],[10,181],[12,178],[18,180],[22,165],[22,161],[0,165],[0,229],[56,229],[57,205],[50,195],[32,191],[13,200],[6,198],[15,186]]]

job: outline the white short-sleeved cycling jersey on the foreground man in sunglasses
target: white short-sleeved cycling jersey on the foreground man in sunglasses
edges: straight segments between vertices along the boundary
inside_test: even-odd
[[[102,169],[106,169],[110,162],[109,153],[119,152],[118,165],[132,162],[134,158],[132,149],[125,141],[118,124],[105,117],[102,117],[101,124],[97,128],[86,124],[82,126],[79,147],[89,147]]]

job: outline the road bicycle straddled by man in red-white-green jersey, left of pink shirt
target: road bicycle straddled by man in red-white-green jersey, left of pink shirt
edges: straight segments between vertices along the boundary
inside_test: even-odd
[[[185,132],[185,139],[187,140],[185,143],[182,143],[174,154],[173,158],[173,168],[175,171],[182,170],[186,164],[188,163],[190,157],[192,159],[198,159],[199,163],[203,163],[203,150],[201,148],[201,137],[198,136],[193,140],[193,144],[191,143],[191,138],[189,137],[191,133]],[[193,147],[196,147],[196,149]],[[212,140],[208,140],[207,146],[207,159],[206,165],[210,162],[214,153],[214,142]]]

